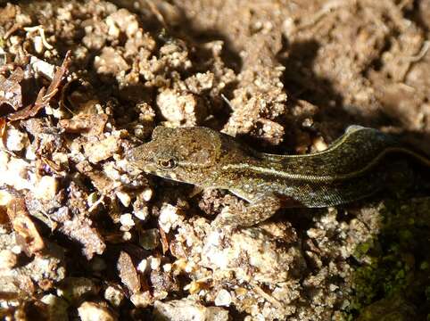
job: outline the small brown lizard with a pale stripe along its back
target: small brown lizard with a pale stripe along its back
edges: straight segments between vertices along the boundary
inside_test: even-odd
[[[430,160],[374,128],[351,126],[323,152],[256,152],[211,128],[153,130],[152,141],[127,154],[137,169],[203,188],[227,189],[250,204],[222,210],[216,226],[252,226],[285,207],[328,207],[367,197],[386,184],[387,161]]]

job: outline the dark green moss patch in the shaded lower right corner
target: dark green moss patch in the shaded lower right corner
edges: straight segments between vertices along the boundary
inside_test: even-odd
[[[413,302],[412,306],[418,310],[430,307],[430,199],[406,204],[388,202],[380,215],[383,218],[380,234],[360,244],[354,255],[371,263],[357,267],[354,272],[354,296],[347,317],[377,319],[371,317],[373,312],[369,307],[389,298],[401,297],[405,305]],[[412,310],[408,309],[408,313]]]

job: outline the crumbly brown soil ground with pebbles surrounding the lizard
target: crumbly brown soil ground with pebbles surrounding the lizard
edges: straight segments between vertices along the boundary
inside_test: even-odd
[[[428,169],[238,230],[211,228],[236,196],[124,157],[158,125],[303,154],[360,124],[430,153],[430,1],[0,4],[2,318],[430,318]]]

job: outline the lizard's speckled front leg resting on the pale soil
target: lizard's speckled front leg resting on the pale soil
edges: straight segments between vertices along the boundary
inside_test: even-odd
[[[254,226],[274,215],[281,208],[281,200],[274,194],[261,194],[248,206],[240,209],[227,206],[212,222],[213,226]]]

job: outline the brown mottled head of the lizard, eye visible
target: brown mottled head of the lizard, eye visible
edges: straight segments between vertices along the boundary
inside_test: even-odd
[[[128,151],[132,166],[159,177],[203,185],[219,159],[219,133],[211,128],[153,130],[152,140]]]

